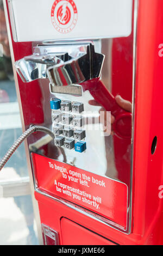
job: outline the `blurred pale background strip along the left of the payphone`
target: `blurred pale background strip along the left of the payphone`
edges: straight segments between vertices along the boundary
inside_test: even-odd
[[[22,134],[7,26],[0,0],[0,159]],[[38,245],[24,144],[0,173],[0,245]]]

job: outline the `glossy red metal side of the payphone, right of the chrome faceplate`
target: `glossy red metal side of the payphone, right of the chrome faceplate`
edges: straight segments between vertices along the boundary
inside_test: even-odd
[[[135,143],[134,143],[134,228],[142,243],[158,244],[161,237],[154,232],[159,225],[162,200],[158,187],[163,184],[162,68],[158,46],[163,41],[163,2],[139,1],[137,24]],[[153,138],[158,137],[154,155]],[[161,228],[161,227],[160,227]]]

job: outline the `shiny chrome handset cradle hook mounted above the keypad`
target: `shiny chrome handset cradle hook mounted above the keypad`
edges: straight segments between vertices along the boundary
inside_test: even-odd
[[[15,63],[23,82],[49,78],[53,86],[80,84],[101,75],[104,55],[95,52],[94,45],[38,45],[34,54]]]

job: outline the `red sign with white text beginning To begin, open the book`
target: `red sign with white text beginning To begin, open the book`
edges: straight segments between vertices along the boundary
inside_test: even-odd
[[[38,188],[126,227],[126,184],[35,153],[32,160]]]

